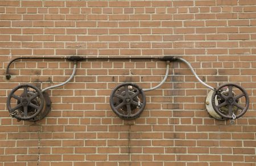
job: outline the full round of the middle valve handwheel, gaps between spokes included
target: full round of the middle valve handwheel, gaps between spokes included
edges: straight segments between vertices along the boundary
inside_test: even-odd
[[[122,83],[110,95],[110,107],[118,117],[133,120],[141,115],[146,106],[146,96],[137,84]]]

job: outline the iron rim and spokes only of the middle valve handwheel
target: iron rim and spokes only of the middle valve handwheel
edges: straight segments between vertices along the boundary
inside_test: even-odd
[[[137,92],[133,93],[132,95],[130,95],[129,93],[129,86],[135,87],[137,88]],[[125,96],[119,95],[118,93],[116,93],[119,88],[125,88]],[[142,103],[139,103],[137,101],[134,100],[135,97],[138,97],[138,95],[141,95],[142,98]],[[121,99],[122,102],[119,103],[117,106],[114,105],[114,99],[113,97],[117,97],[118,99]],[[115,114],[117,114],[118,117],[124,119],[124,120],[133,120],[134,118],[138,118],[141,113],[144,110],[144,107],[146,106],[146,95],[144,94],[144,91],[142,90],[142,88],[140,88],[139,86],[137,86],[137,84],[134,83],[122,83],[119,84],[119,86],[115,87],[114,90],[112,91],[111,95],[110,95],[110,99],[109,99],[109,103],[110,103],[110,107],[112,108],[113,112]],[[131,106],[134,105],[140,105],[140,107],[138,108],[139,110],[135,113],[132,113],[132,109]],[[127,109],[127,114],[123,114],[119,112],[119,109],[126,106]]]

